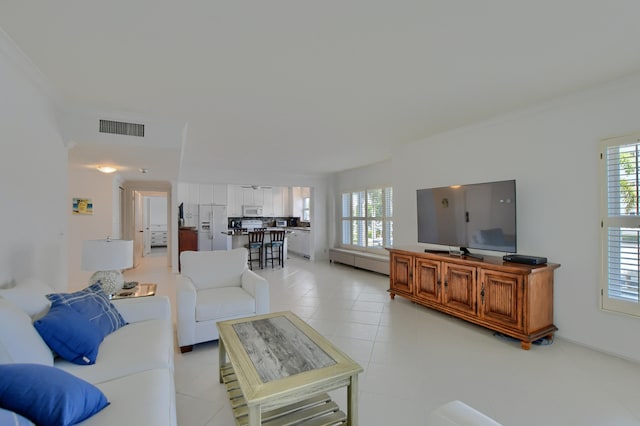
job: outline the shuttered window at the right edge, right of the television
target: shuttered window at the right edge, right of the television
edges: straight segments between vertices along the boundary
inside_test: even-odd
[[[640,316],[640,134],[601,143],[602,309]]]

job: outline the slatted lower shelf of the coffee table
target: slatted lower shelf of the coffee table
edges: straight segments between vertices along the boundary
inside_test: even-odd
[[[227,387],[236,425],[247,426],[249,408],[231,363],[223,365],[220,370],[222,381]],[[262,413],[263,426],[334,426],[346,423],[347,415],[340,411],[338,404],[333,402],[327,393]]]

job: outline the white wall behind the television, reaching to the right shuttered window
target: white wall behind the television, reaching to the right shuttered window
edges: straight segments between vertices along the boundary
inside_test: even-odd
[[[518,252],[556,271],[558,335],[640,361],[640,318],[599,306],[601,138],[640,131],[640,75],[405,146],[392,158],[396,245],[417,244],[416,189],[516,179]]]

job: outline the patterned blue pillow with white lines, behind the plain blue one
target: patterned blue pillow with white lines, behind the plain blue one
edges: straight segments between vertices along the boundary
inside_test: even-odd
[[[99,283],[75,293],[47,294],[47,299],[51,300],[51,303],[66,304],[84,315],[98,326],[103,337],[127,325]]]

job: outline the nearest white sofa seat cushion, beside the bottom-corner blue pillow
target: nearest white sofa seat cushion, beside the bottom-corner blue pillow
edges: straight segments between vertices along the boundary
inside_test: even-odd
[[[176,425],[171,370],[144,371],[96,386],[111,404],[78,425]]]

